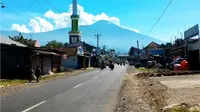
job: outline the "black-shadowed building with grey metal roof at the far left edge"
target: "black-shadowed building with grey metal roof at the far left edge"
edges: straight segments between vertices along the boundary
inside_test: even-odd
[[[27,78],[31,49],[9,38],[0,37],[1,79]]]

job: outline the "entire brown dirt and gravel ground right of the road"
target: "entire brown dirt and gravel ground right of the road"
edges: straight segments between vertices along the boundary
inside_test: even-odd
[[[200,112],[200,75],[149,78],[129,67],[115,112]]]

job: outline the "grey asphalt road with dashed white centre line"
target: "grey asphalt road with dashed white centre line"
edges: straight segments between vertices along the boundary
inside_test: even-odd
[[[1,97],[1,112],[111,112],[127,66],[60,79]]]

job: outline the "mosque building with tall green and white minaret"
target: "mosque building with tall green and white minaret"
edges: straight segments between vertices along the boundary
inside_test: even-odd
[[[81,41],[81,32],[79,31],[79,15],[77,13],[77,0],[73,0],[73,13],[71,15],[71,31],[69,32],[69,45],[65,48],[75,48],[77,50],[74,56],[62,59],[62,65],[69,68],[86,68],[95,63],[94,50],[96,47]]]

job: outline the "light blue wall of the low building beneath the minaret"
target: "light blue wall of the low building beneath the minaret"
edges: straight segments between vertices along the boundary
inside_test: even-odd
[[[78,66],[77,56],[67,57],[67,59],[63,59],[63,57],[62,57],[61,65],[63,67],[68,67],[68,68],[77,68],[77,66]]]

